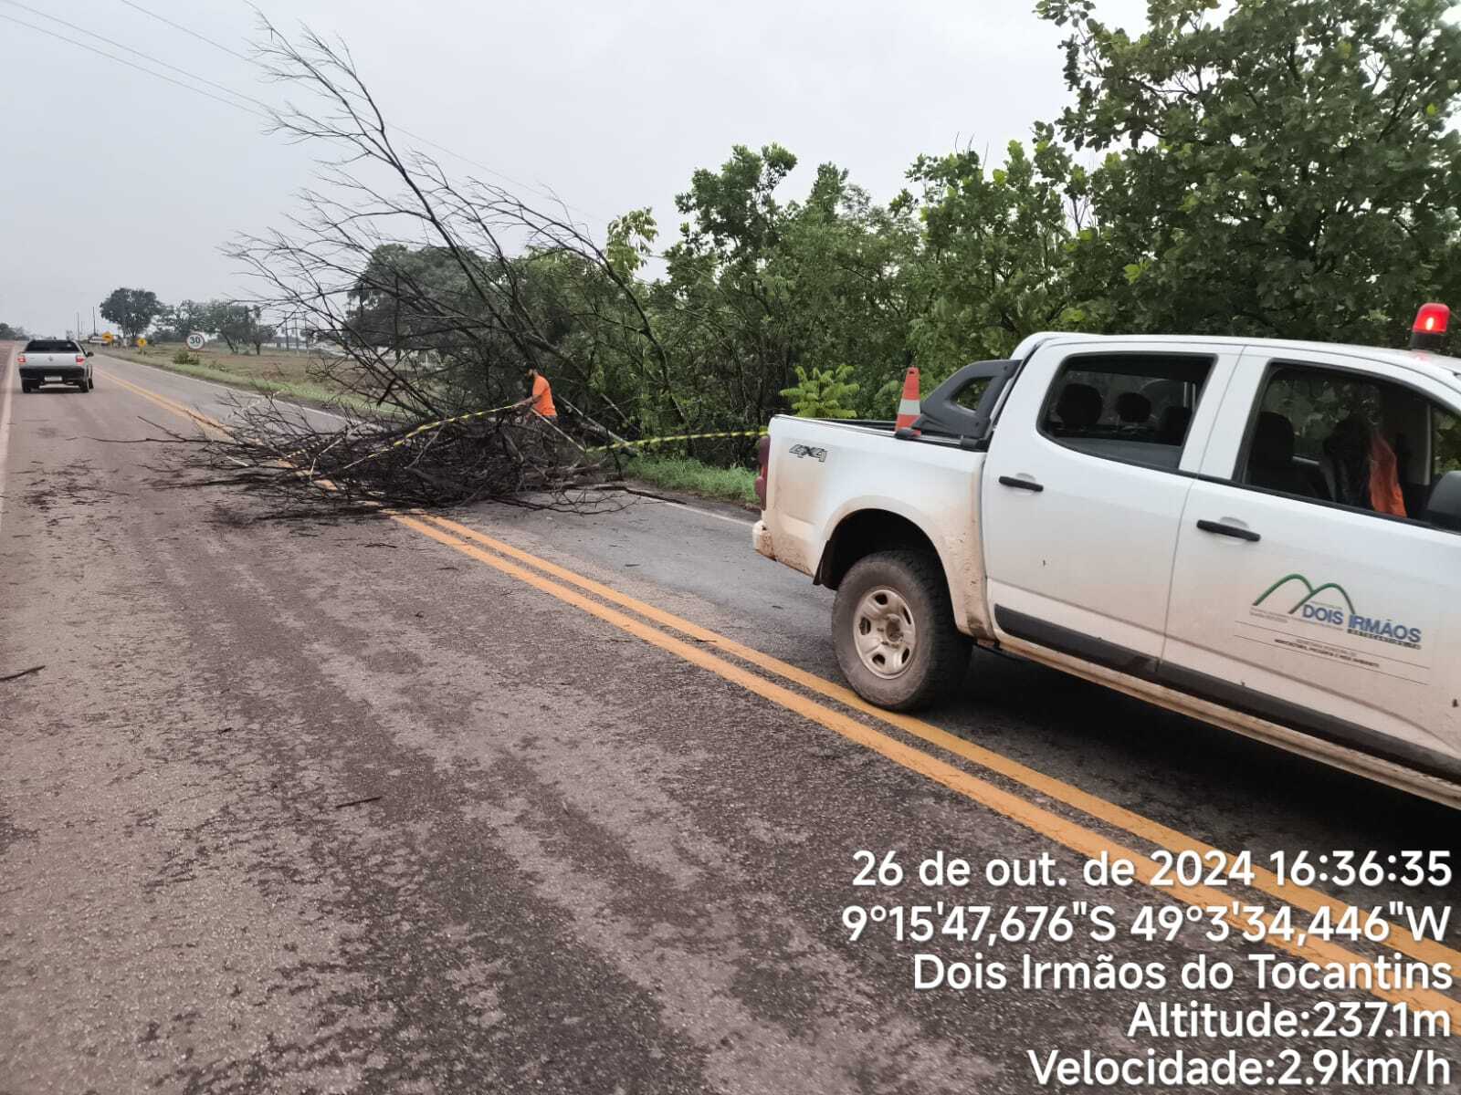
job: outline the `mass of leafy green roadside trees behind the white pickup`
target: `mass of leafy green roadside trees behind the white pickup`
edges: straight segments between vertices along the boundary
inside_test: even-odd
[[[652,315],[675,353],[627,399],[646,432],[751,426],[846,368],[837,407],[885,415],[909,365],[937,384],[1042,330],[1395,345],[1461,296],[1443,10],[1151,0],[1128,35],[1043,0],[1071,107],[998,161],[918,158],[887,206],[830,164],[785,197],[796,158],[735,146],[676,201]]]

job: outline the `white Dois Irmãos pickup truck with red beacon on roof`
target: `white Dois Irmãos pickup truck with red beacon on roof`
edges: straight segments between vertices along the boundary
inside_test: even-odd
[[[1461,807],[1461,359],[1036,334],[912,429],[773,419],[757,489],[872,704],[977,642]]]

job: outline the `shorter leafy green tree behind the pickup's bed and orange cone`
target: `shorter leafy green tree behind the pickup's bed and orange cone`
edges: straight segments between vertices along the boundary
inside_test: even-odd
[[[795,165],[779,145],[735,146],[678,199],[688,219],[655,302],[676,406],[697,426],[763,425],[798,368],[849,366],[855,409],[871,410],[909,364],[913,212],[878,206],[833,164],[805,200],[783,200]]]

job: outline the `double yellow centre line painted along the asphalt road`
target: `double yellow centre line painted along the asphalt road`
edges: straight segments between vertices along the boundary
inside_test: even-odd
[[[199,415],[180,403],[158,396],[156,393],[146,391],[145,388],[129,384],[127,381],[121,381],[120,378],[110,377],[110,380],[136,393],[137,396],[171,410],[175,415],[188,418],[193,422],[205,425],[210,429],[226,432],[226,426],[218,420]],[[897,737],[882,733],[862,718],[852,717],[847,711],[855,711],[863,718],[877,720],[901,731],[903,734],[937,746],[945,753],[979,765],[980,768],[998,774],[1045,799],[1080,810],[1099,822],[1129,832],[1151,845],[1167,848],[1175,853],[1191,851],[1198,856],[1217,851],[1202,841],[1144,818],[1132,810],[1116,806],[1115,803],[1109,803],[1099,796],[1080,790],[1078,787],[1072,787],[1061,780],[1045,775],[1033,768],[1029,768],[1027,765],[977,746],[973,742],[957,737],[955,734],[941,730],[931,723],[913,718],[912,715],[901,715],[875,708],[863,702],[856,694],[842,685],[825,680],[814,673],[808,673],[806,670],[798,669],[796,666],[774,658],[763,651],[726,638],[714,631],[710,631],[709,628],[703,628],[698,623],[675,616],[663,609],[657,609],[653,604],[646,604],[644,602],[630,597],[611,585],[593,581],[592,578],[576,574],[565,566],[560,566],[548,559],[530,555],[529,552],[487,536],[485,533],[470,529],[459,521],[424,512],[405,514],[390,510],[383,510],[381,512],[396,524],[411,529],[421,536],[430,537],[446,548],[460,552],[462,555],[491,566],[516,581],[522,581],[541,593],[555,597],[565,604],[571,604],[573,607],[595,616],[605,623],[633,635],[634,638],[674,654],[675,657],[698,666],[700,669],[714,673],[716,676],[738,685],[739,688],[744,688],[745,691],[752,692],[754,695],[758,695],[786,711],[842,734],[847,740],[856,742],[858,745],[877,752],[909,771],[915,771],[979,803],[980,806],[995,810],[996,813],[1018,822],[1020,825],[1069,848],[1080,856],[1094,858],[1105,854],[1112,860],[1131,860],[1137,867],[1137,877],[1143,883],[1151,885],[1159,875],[1157,863],[1154,863],[1148,856],[1135,851],[1134,848],[1124,847],[1094,829],[1071,821],[1069,818],[1061,816],[1059,813],[1036,804],[1026,797],[1014,794],[1012,791],[980,778],[961,766],[950,764],[934,753],[916,749]],[[621,612],[619,609],[627,609],[627,612]],[[736,661],[755,666],[761,670],[761,673],[751,672],[744,664],[736,664],[736,661],[730,661],[728,658],[736,658]],[[786,683],[777,683],[773,677],[779,677]],[[787,685],[795,685],[802,691],[793,691],[792,688],[787,688]],[[839,707],[833,708],[827,704],[818,702],[817,699],[805,695],[805,692],[812,692],[830,699]],[[1349,904],[1306,886],[1281,886],[1273,872],[1264,870],[1256,864],[1254,867],[1254,889],[1265,892],[1270,896],[1275,896],[1294,908],[1305,910],[1311,914],[1318,912],[1319,910],[1328,910],[1332,917],[1332,923],[1340,923],[1340,918],[1351,910]],[[1161,886],[1156,892],[1161,898],[1180,901],[1199,908],[1229,907],[1235,899],[1235,895],[1227,891],[1201,885]],[[1227,918],[1235,929],[1235,934],[1248,927],[1246,920],[1236,915],[1229,915]],[[1273,924],[1271,917],[1267,918],[1267,921]],[[1363,921],[1365,912],[1360,910],[1359,923]],[[1297,942],[1297,933],[1294,933],[1290,939],[1284,939],[1281,934],[1270,936],[1264,940],[1264,945],[1287,950],[1302,959],[1315,962],[1365,964],[1370,961],[1322,939],[1309,937],[1300,943]],[[1394,930],[1392,939],[1385,946],[1422,962],[1451,964],[1452,971],[1461,972],[1461,952],[1457,952],[1436,940],[1417,940],[1400,927]],[[1451,1016],[1452,1023],[1457,1028],[1461,1028],[1461,1003],[1435,990],[1389,990],[1376,987],[1369,991],[1372,991],[1373,996],[1394,1003],[1407,1003],[1411,1007],[1445,1012]]]

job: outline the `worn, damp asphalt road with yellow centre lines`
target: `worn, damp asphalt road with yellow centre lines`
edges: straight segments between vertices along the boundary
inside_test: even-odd
[[[850,942],[849,905],[998,918],[1084,901],[1129,924],[1201,904],[1195,886],[1088,885],[1100,853],[1384,858],[1455,851],[1461,826],[992,654],[926,720],[859,710],[830,596],[757,556],[733,508],[267,520],[184,486],[146,442],[148,420],[226,419],[235,397],[95,362],[89,394],[20,396],[9,366],[0,393],[0,677],[42,666],[0,679],[4,1095],[1030,1092],[1030,1051],[1296,1050],[1309,1067],[1338,1048],[1313,1031],[1132,1035],[1140,1002],[1404,999],[1461,1022],[1454,987],[1248,983],[1249,953],[1389,953],[1365,940],[916,943],[890,920]],[[977,877],[856,886],[859,850],[909,875],[944,851]],[[1068,885],[992,885],[993,858]],[[1283,904],[1261,880],[1218,889]],[[1461,907],[1454,882],[1281,896],[1303,917],[1330,899]],[[1458,950],[1461,911],[1417,955],[1461,974]],[[918,990],[918,953],[1229,961],[1243,978]],[[1343,1044],[1435,1050],[1451,1076],[1312,1091],[1461,1091],[1451,1038]]]

